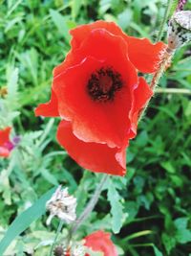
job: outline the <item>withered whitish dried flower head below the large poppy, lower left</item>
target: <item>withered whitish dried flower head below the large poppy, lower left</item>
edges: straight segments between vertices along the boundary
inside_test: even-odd
[[[75,221],[76,198],[68,194],[68,188],[62,190],[59,186],[53,197],[47,201],[46,207],[51,213],[47,220],[48,225],[54,216],[67,223]]]

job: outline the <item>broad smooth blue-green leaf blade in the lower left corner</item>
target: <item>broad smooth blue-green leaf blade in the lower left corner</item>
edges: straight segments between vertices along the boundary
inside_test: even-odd
[[[12,221],[4,238],[0,242],[0,255],[3,255],[11,242],[23,231],[25,231],[31,225],[32,221],[37,220],[45,213],[45,204],[47,200],[51,198],[54,191],[55,187],[49,190],[46,194],[44,194],[41,198],[34,202],[34,204],[30,208],[28,208],[14,221]]]

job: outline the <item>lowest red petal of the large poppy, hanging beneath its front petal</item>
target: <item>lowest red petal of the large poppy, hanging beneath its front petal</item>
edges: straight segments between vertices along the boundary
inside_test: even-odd
[[[105,144],[85,143],[74,136],[70,122],[61,121],[57,140],[83,168],[108,175],[125,175],[125,149],[109,148]]]

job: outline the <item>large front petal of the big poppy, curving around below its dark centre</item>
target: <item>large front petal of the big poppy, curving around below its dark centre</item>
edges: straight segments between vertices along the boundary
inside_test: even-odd
[[[103,65],[96,59],[87,58],[57,76],[53,81],[53,90],[57,95],[59,113],[73,123],[75,136],[86,142],[121,147],[130,130],[128,112],[132,100],[129,88],[124,84],[116,93],[115,100],[109,103],[95,102],[86,89],[92,72]]]

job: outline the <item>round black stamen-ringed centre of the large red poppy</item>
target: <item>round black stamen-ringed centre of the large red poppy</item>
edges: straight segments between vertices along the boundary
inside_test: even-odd
[[[93,73],[88,81],[88,94],[97,102],[108,102],[115,98],[122,88],[121,75],[112,67],[102,67]]]

